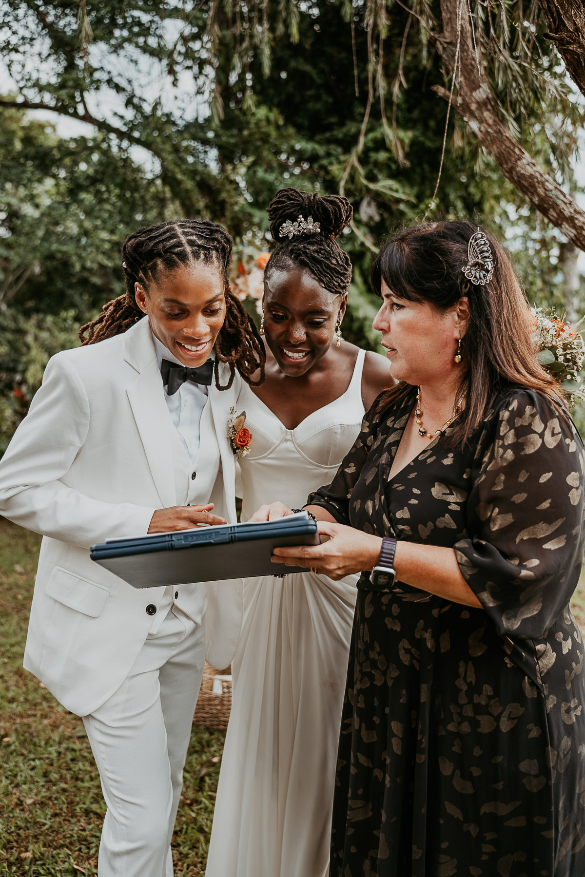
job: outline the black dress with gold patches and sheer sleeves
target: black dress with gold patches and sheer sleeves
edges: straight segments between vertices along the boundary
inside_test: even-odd
[[[446,436],[396,476],[414,390],[367,415],[329,487],[340,524],[453,547],[482,602],[399,584],[353,623],[332,877],[583,877],[583,644],[569,598],[583,538],[581,439],[512,388],[474,441]]]

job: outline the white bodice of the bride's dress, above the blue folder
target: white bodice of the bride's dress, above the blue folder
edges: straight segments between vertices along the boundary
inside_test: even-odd
[[[280,500],[289,508],[303,506],[307,496],[332,481],[341,460],[360,432],[364,406],[361,375],[366,352],[360,350],[346,392],[288,430],[246,383],[238,410],[246,410],[252,432],[250,452],[239,463],[244,503],[242,520],[260,505]]]

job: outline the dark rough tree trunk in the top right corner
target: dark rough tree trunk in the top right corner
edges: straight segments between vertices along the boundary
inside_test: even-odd
[[[583,0],[539,0],[557,47],[575,85],[585,95],[585,4]]]

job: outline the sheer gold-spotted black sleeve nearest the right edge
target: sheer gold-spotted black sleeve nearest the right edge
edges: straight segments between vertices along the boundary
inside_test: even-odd
[[[544,396],[518,390],[474,457],[461,574],[503,635],[541,638],[567,606],[583,553],[583,445]]]

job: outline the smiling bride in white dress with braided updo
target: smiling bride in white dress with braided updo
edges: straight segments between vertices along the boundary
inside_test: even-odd
[[[339,196],[296,189],[268,208],[273,239],[293,234],[265,273],[267,379],[243,385],[253,439],[240,460],[242,520],[280,500],[301,507],[332,481],[366,407],[389,386],[388,362],[340,341],[351,263],[334,238],[351,219]],[[261,331],[261,330],[260,330]],[[206,877],[325,877],[355,581],[265,576],[244,583]]]

